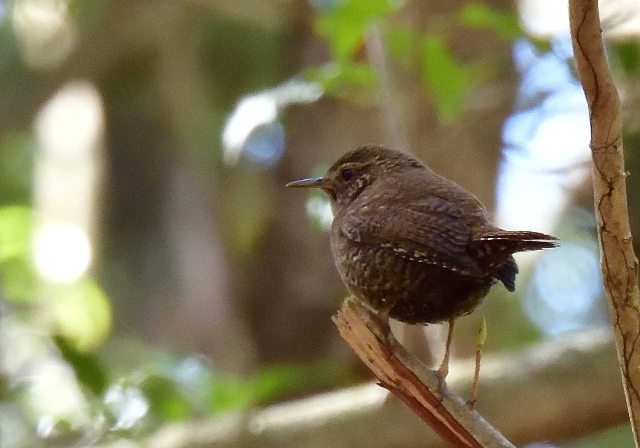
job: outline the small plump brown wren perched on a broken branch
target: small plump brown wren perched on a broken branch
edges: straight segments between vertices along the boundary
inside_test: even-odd
[[[385,320],[453,321],[477,307],[497,281],[514,291],[514,252],[557,246],[555,237],[490,224],[476,196],[415,157],[378,145],[344,154],[324,177],[288,187],[330,198],[330,240],[342,282]]]

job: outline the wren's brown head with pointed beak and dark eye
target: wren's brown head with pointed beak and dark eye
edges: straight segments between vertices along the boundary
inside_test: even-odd
[[[426,168],[422,162],[404,152],[379,145],[366,145],[340,157],[323,177],[289,182],[287,187],[320,188],[336,209],[345,207],[380,179],[410,168]]]

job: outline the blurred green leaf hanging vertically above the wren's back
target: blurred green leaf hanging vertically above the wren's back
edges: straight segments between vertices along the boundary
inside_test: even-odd
[[[422,81],[433,95],[438,115],[445,120],[455,120],[460,116],[467,92],[466,70],[438,36],[426,36],[423,49]]]

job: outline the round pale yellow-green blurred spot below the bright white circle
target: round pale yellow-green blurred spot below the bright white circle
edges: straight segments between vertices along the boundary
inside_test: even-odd
[[[109,334],[109,300],[92,280],[83,280],[62,289],[53,300],[58,328],[77,350],[94,349]]]

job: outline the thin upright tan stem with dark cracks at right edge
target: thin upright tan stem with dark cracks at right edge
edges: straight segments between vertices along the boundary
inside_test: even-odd
[[[602,44],[598,1],[570,0],[569,20],[578,75],[589,106],[602,278],[628,413],[636,447],[640,448],[640,304],[637,259],[627,210],[620,100]]]

